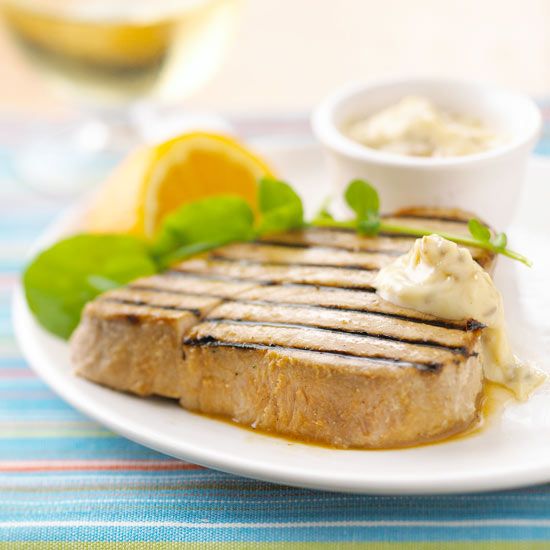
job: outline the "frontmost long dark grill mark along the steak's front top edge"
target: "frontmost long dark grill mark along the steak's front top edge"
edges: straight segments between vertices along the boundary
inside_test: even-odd
[[[310,353],[320,353],[328,354],[337,357],[349,358],[353,357],[354,359],[364,360],[374,363],[381,363],[384,365],[397,365],[402,367],[414,367],[421,371],[430,371],[437,372],[440,370],[443,365],[442,363],[433,363],[433,362],[415,362],[415,361],[404,361],[402,359],[394,359],[391,357],[379,357],[379,356],[367,356],[367,355],[356,355],[352,352],[346,351],[337,351],[337,350],[321,350],[316,348],[308,348],[301,346],[292,346],[290,344],[282,346],[279,344],[255,344],[252,342],[231,342],[227,340],[220,340],[213,336],[203,336],[201,338],[188,338],[183,341],[185,346],[193,347],[228,347],[235,349],[249,349],[249,350],[300,350],[307,351]]]

